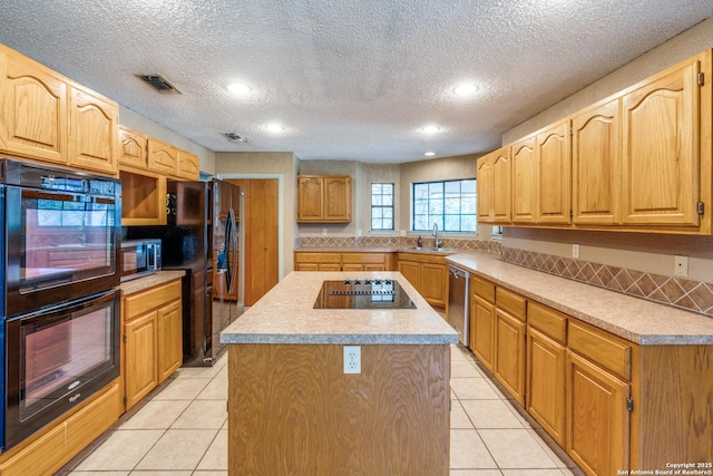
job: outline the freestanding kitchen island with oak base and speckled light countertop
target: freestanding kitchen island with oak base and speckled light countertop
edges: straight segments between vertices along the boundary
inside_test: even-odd
[[[349,278],[398,281],[416,308],[314,309],[325,280]],[[229,475],[448,475],[458,334],[400,273],[293,272],[221,341]]]

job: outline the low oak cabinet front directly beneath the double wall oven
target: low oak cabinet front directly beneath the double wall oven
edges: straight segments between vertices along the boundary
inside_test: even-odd
[[[51,475],[114,425],[123,412],[119,379],[27,444],[0,456],[2,476]]]

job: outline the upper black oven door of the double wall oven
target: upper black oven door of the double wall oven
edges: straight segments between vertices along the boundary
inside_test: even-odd
[[[7,186],[6,315],[119,284],[116,196]]]

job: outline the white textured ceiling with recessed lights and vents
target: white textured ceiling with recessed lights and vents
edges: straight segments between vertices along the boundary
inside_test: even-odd
[[[2,0],[0,42],[216,152],[402,163],[490,150],[711,16],[710,0]]]

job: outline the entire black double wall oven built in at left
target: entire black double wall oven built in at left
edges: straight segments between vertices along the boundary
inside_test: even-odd
[[[0,158],[0,444],[119,375],[120,182]]]

